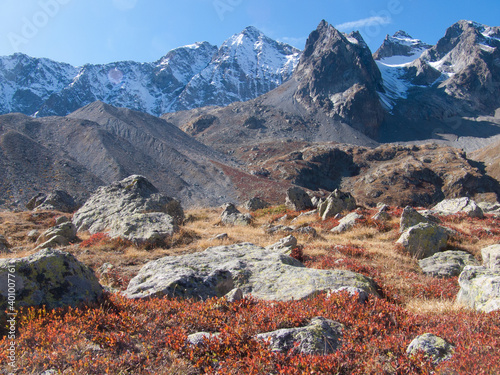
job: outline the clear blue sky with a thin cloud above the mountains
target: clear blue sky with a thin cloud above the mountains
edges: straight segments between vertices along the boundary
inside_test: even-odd
[[[197,41],[220,45],[250,25],[302,49],[322,19],[359,30],[375,51],[400,29],[434,44],[460,19],[500,26],[500,1],[0,0],[0,56],[151,62]]]

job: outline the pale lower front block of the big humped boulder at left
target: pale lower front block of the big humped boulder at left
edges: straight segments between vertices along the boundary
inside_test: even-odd
[[[161,245],[178,227],[172,216],[163,212],[151,212],[116,218],[108,229],[111,238],[121,237],[137,245]]]

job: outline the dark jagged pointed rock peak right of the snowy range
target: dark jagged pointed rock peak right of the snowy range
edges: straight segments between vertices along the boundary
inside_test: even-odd
[[[375,135],[384,111],[377,91],[382,77],[359,33],[344,35],[322,21],[309,36],[294,73],[294,99],[322,110],[367,135]]]

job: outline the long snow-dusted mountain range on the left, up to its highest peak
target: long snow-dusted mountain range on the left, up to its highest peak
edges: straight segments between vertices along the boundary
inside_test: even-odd
[[[262,95],[292,73],[300,51],[254,27],[220,48],[207,42],[170,51],[153,63],[72,67],[23,54],[0,58],[0,113],[66,115],[100,100],[153,115],[227,105]]]

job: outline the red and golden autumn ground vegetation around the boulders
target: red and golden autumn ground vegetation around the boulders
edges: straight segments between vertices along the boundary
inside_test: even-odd
[[[16,338],[18,374],[48,369],[60,374],[498,374],[500,373],[500,312],[480,313],[457,306],[457,278],[437,279],[422,274],[415,259],[395,245],[401,210],[391,220],[363,220],[351,231],[333,234],[335,219],[300,216],[284,206],[254,213],[254,225],[224,227],[220,209],[187,212],[182,230],[162,248],[144,249],[105,234],[80,233],[80,242],[66,251],[97,273],[104,263],[115,266],[101,282],[112,287],[94,306],[53,311],[43,307],[20,311]],[[13,254],[25,256],[34,244],[30,230],[53,225],[58,213],[0,213]],[[292,223],[292,221],[294,221]],[[229,303],[178,298],[132,301],[119,290],[127,286],[149,260],[202,251],[209,246],[238,242],[269,245],[283,234],[268,235],[269,223],[310,225],[317,237],[297,235],[293,256],[307,267],[348,269],[372,277],[381,298],[365,304],[346,294],[321,293],[302,301],[264,302],[251,297]],[[480,250],[500,243],[500,221],[492,216],[443,218],[454,229],[453,249]],[[226,240],[211,240],[227,233]],[[342,347],[326,356],[273,353],[257,333],[306,325],[322,316],[345,326]],[[195,332],[220,332],[200,346],[186,343]],[[418,335],[433,333],[455,346],[453,357],[439,365],[424,355],[408,356],[406,348]],[[2,334],[5,333],[5,330]],[[6,363],[8,340],[0,341],[0,363]],[[1,372],[3,371],[3,372]],[[6,373],[0,370],[0,373]]]

